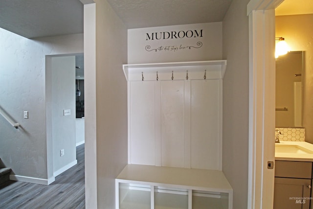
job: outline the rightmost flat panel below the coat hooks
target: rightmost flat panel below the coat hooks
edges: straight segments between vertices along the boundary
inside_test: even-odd
[[[191,167],[221,169],[222,85],[191,81]]]

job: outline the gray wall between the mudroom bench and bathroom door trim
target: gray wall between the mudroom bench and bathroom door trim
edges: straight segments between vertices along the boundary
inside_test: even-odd
[[[249,37],[246,6],[233,0],[223,21],[223,171],[234,190],[233,209],[247,207]]]

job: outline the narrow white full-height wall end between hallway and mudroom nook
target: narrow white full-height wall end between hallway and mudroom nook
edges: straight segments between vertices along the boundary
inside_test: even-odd
[[[85,77],[85,199],[86,208],[97,208],[96,127],[96,5],[84,5]]]

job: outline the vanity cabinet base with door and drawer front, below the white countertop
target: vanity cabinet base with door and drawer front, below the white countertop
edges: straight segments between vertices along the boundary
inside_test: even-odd
[[[312,162],[275,161],[274,209],[310,209]]]

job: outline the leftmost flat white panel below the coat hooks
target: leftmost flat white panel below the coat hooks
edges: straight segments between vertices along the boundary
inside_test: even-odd
[[[131,82],[131,162],[155,164],[155,82]]]

